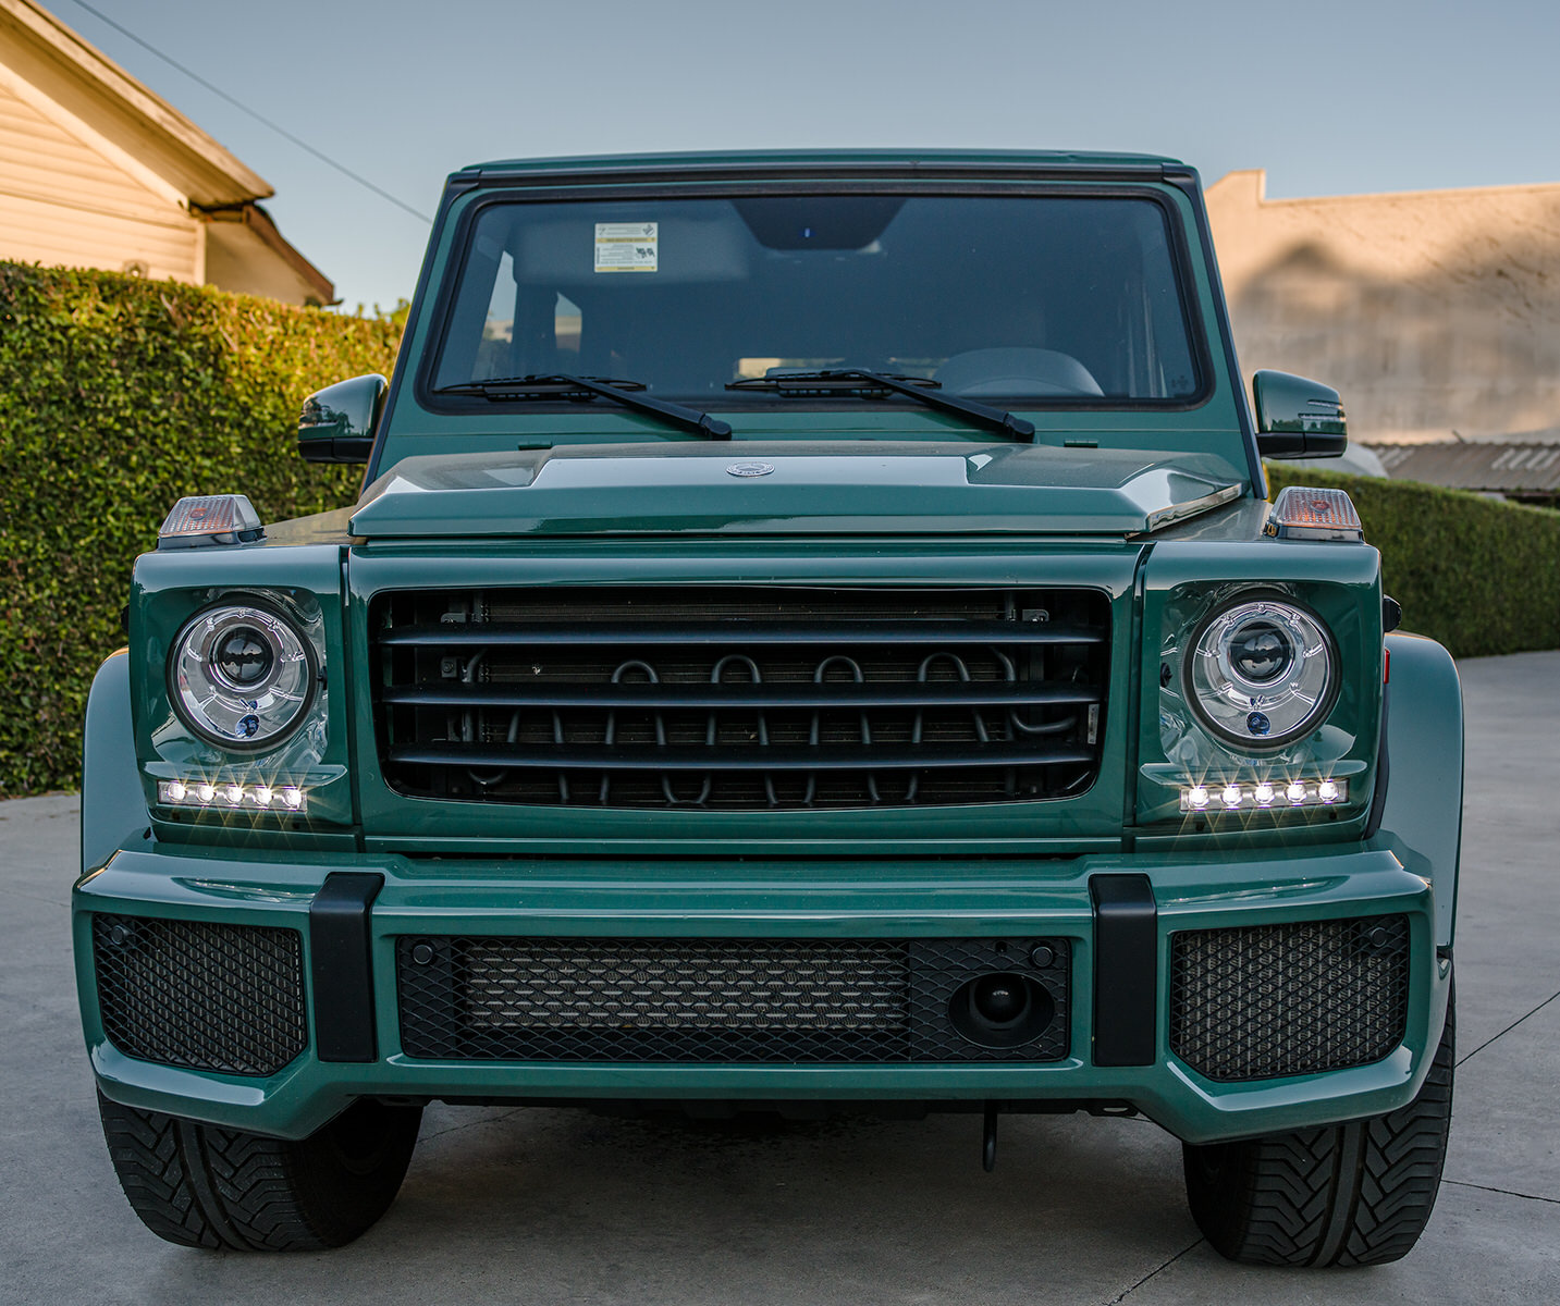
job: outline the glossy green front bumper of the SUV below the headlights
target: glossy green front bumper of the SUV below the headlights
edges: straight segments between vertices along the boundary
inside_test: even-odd
[[[328,877],[371,888],[367,917],[315,910]],[[1133,880],[1131,877],[1143,877]],[[376,883],[382,878],[382,886]],[[1112,941],[1101,899],[1129,883],[1153,913]],[[1106,889],[1106,893],[1101,893]],[[328,893],[326,897],[331,894]],[[349,896],[348,896],[349,897]],[[1189,1142],[1374,1116],[1418,1092],[1440,1039],[1451,963],[1434,946],[1431,885],[1390,852],[1089,855],[934,863],[476,861],[334,855],[307,861],[161,846],[122,850],[75,889],[83,1027],[103,1092],[126,1105],[254,1133],[303,1137],[360,1095],[417,1098],[714,1098],[729,1102],[1131,1103]],[[271,1075],[176,1069],[125,1055],[105,1035],[94,969],[97,913],[298,930],[312,975],[307,1047]],[[1170,1050],[1170,939],[1178,932],[1398,914],[1407,921],[1404,1038],[1370,1064],[1215,1083]],[[324,922],[321,925],[321,921]],[[370,978],[332,977],[353,930]],[[345,930],[345,933],[343,933]],[[1136,933],[1134,933],[1136,930]],[[571,938],[1002,938],[1069,942],[1069,1055],[1047,1063],[629,1064],[440,1061],[401,1044],[396,941],[406,935]],[[321,942],[323,941],[323,942]],[[1123,952],[1136,949],[1136,952]],[[1145,952],[1148,955],[1145,955]],[[1151,986],[1151,991],[1150,991]],[[323,992],[321,992],[323,991]],[[367,1045],[342,1044],[357,1003]],[[332,1011],[321,1022],[321,1003]],[[1137,1020],[1137,1033],[1133,1022]],[[351,1019],[348,1019],[348,1033]],[[1126,1030],[1123,1036],[1123,1028]],[[1125,1038],[1125,1042],[1123,1042]],[[1122,1047],[1143,1050],[1123,1058]],[[371,1059],[321,1059],[365,1056]],[[1139,1064],[1101,1064],[1122,1059]]]

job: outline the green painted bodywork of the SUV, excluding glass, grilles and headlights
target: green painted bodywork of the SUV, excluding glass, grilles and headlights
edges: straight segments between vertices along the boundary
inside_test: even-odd
[[[605,406],[417,399],[465,211],[507,189],[649,193],[736,175],[980,176],[983,186],[1154,189],[1186,234],[1189,311],[1209,342],[1193,407],[1020,415],[1033,445],[994,440],[900,403],[738,407],[705,443]],[[933,183],[939,184],[939,183]],[[1440,1036],[1457,882],[1462,718],[1455,671],[1426,641],[1393,651],[1392,785],[1371,796],[1382,743],[1381,560],[1356,543],[1279,541],[1195,175],[1151,156],[864,151],[518,161],[459,173],[429,248],[396,376],[353,507],[268,524],[231,548],[137,560],[128,657],[87,708],[76,974],[92,1064],[112,1098],[232,1128],[304,1136],[362,1094],[1129,1102],[1206,1142],[1370,1116],[1409,1102]],[[321,378],[326,381],[328,378]],[[356,393],[356,392],[354,392]],[[357,434],[354,426],[353,435]],[[739,481],[730,462],[772,474]],[[242,488],[242,487],[240,487]],[[148,541],[150,543],[150,541]],[[1101,763],[1048,800],[903,808],[693,811],[421,799],[390,788],[374,738],[371,613],[399,590],[569,587],[1078,588],[1109,612]],[[1342,688],[1282,751],[1232,752],[1178,697],[1187,633],[1234,594],[1270,593],[1331,630]],[[170,708],[165,666],[200,609],[261,596],[318,618],[323,729],[307,747],[242,757],[201,744]],[[304,738],[303,733],[298,736]],[[1186,785],[1295,772],[1346,779],[1315,811],[1182,816]],[[158,782],[309,788],[306,814],[173,810]],[[332,871],[384,877],[370,917],[381,1058],[306,1052],[245,1078],[154,1066],[105,1041],[90,916],[115,911],[298,928]],[[1159,911],[1159,1036],[1151,1064],[1092,1064],[1098,874],[1147,875]],[[1376,913],[1410,921],[1407,1036],[1370,1066],[1215,1084],[1168,1052],[1165,977],[1176,930]],[[1045,1064],[716,1066],[434,1063],[399,1049],[395,939],[406,933],[722,938],[1070,939],[1072,1055]],[[318,1000],[318,995],[312,995]],[[314,1019],[310,1005],[310,1020]]]

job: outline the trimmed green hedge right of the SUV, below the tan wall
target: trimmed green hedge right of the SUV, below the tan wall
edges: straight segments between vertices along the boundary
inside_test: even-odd
[[[1268,485],[1348,490],[1404,630],[1457,657],[1560,648],[1560,512],[1314,462],[1268,463]]]

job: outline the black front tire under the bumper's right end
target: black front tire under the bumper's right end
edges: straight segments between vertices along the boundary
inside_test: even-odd
[[[1384,1265],[1412,1250],[1446,1161],[1455,997],[1431,1074],[1407,1106],[1348,1125],[1182,1145],[1187,1203],[1214,1250],[1253,1265]]]

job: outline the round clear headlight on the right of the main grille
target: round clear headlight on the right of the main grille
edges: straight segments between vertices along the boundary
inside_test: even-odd
[[[1215,735],[1246,749],[1314,730],[1337,697],[1337,655],[1306,609],[1256,599],[1209,616],[1182,663],[1186,697]]]

